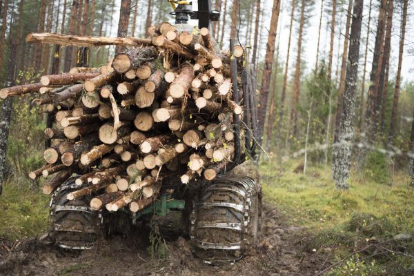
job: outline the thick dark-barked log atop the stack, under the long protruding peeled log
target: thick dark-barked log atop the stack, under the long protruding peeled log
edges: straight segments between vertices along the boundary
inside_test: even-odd
[[[114,68],[115,72],[121,74],[131,69],[137,70],[144,63],[155,59],[157,55],[157,50],[152,47],[132,48],[115,55],[112,68]]]

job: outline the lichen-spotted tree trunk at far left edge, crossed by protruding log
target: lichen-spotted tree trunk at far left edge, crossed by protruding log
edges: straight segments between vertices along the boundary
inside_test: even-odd
[[[6,9],[4,10],[6,12]],[[14,70],[16,68],[17,47],[10,43],[8,70],[6,75],[5,86],[14,84]],[[4,172],[6,171],[6,153],[8,144],[8,134],[10,130],[10,121],[12,115],[13,101],[11,98],[4,99],[0,109],[0,195],[3,190]]]

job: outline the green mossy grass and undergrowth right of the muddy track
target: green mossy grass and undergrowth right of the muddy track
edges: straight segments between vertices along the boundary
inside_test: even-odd
[[[326,259],[321,275],[414,274],[414,189],[386,162],[369,159],[371,170],[353,172],[348,191],[334,188],[323,165],[304,175],[299,161],[261,164],[265,200],[307,229],[303,250]]]

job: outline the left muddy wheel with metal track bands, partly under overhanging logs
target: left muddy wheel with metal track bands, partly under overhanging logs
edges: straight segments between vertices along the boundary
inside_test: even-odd
[[[84,250],[92,247],[100,233],[101,213],[89,207],[91,197],[70,201],[68,193],[79,190],[71,178],[58,188],[50,201],[50,236],[60,248]]]

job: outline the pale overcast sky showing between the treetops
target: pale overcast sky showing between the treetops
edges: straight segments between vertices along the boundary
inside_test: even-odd
[[[158,0],[164,1],[164,0]],[[309,19],[308,26],[304,32],[304,43],[303,45],[303,52],[302,57],[304,62],[307,64],[307,70],[311,70],[315,66],[316,60],[316,50],[317,50],[317,37],[318,37],[318,28],[319,28],[319,14],[321,8],[321,1],[322,0],[315,0],[315,5],[313,6],[313,11],[308,12],[308,16],[311,15]],[[119,1],[120,2],[120,1]],[[327,23],[330,24],[331,21],[331,13],[327,10],[331,7],[327,6],[329,1],[324,1],[324,17],[322,19],[322,32],[321,32],[321,42],[319,46],[319,60],[326,58],[328,51],[329,51],[329,43],[330,43],[330,30],[326,29]],[[339,2],[339,1],[338,1]],[[343,51],[343,43],[344,37],[342,36],[341,43],[338,44],[337,41],[337,34],[339,31],[344,34],[345,30],[345,23],[346,23],[346,8],[348,8],[348,1],[344,1],[345,4],[342,7],[342,10],[337,10],[337,26],[335,27],[335,45],[334,45],[334,61],[333,61],[333,75],[335,77],[335,72],[337,68],[337,57],[338,52],[341,53]],[[396,2],[396,1],[394,1]],[[410,1],[408,1],[410,2]],[[288,35],[289,35],[289,23],[290,23],[290,3],[291,0],[282,0],[282,11],[279,14],[279,26],[277,30],[277,41],[280,39],[279,43],[279,51],[280,51],[280,59],[286,60],[286,52],[287,52],[287,44],[288,44]],[[371,72],[371,61],[373,55],[373,47],[375,43],[375,30],[377,25],[377,8],[374,7],[374,3],[376,4],[377,1],[373,0],[373,11],[371,12],[371,34],[369,37],[369,48],[368,48],[368,63],[366,66],[367,74],[366,79],[369,77],[369,72]],[[119,3],[117,3],[118,7],[116,8],[119,11]],[[168,5],[168,3],[166,3]],[[369,0],[364,1],[364,19],[363,19],[363,28],[362,28],[362,45],[360,48],[360,63],[359,63],[359,72],[362,75],[363,70],[363,62],[364,62],[364,52],[365,52],[365,41],[366,41],[366,31],[367,31],[367,24],[368,24],[368,5]],[[395,4],[396,5],[396,4]],[[195,6],[195,10],[197,9],[197,1],[193,1],[193,6]],[[273,1],[265,0],[264,1],[264,8],[265,14],[264,19],[265,22],[263,24],[263,31],[261,35],[261,55],[260,57],[264,57],[265,50],[266,50],[266,42],[267,42],[267,34],[268,28],[270,26],[270,12],[272,10]],[[413,27],[413,19],[411,18],[411,14],[413,14],[414,6],[411,6],[408,10],[408,20],[406,24],[406,41],[405,41],[405,48],[404,48],[404,59],[402,63],[402,77],[403,81],[414,81],[413,72],[414,72],[414,57],[413,55],[408,54],[408,49],[413,48],[414,46],[414,27]],[[230,10],[230,9],[228,9]],[[223,15],[222,15],[223,16]],[[342,16],[342,19],[339,19],[339,16]],[[227,14],[227,22],[230,22],[230,14]],[[299,15],[295,17],[296,19],[299,18]],[[399,51],[399,43],[400,43],[400,22],[401,22],[402,14],[400,9],[397,8],[394,12],[393,16],[393,38],[391,41],[391,71],[390,71],[390,78],[395,78],[397,65],[398,65],[398,51]],[[113,28],[111,30],[111,36],[115,37],[117,34],[117,22],[119,20],[119,12],[116,12],[112,17],[114,21]],[[139,21],[138,21],[139,22]],[[171,23],[174,23],[174,19],[170,20]],[[144,23],[144,20],[141,21]],[[153,22],[155,23],[155,22]],[[342,25],[339,27],[339,23]],[[197,21],[190,21],[190,24],[197,25]],[[295,23],[295,29],[293,30],[293,37],[292,37],[292,46],[290,48],[290,67],[294,66],[295,63],[295,56],[297,50],[297,26],[299,24]],[[230,28],[226,28],[226,34],[224,36],[225,40],[229,39],[230,37]],[[244,37],[244,32],[242,34]],[[341,65],[342,61],[339,59],[339,66]]]

